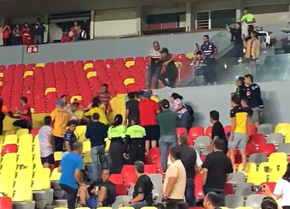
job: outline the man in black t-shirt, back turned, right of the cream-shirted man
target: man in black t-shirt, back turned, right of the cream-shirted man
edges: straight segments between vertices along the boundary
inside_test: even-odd
[[[203,193],[215,192],[221,199],[219,206],[224,206],[224,185],[232,178],[230,159],[222,153],[224,140],[214,141],[213,152],[206,155],[202,164]]]

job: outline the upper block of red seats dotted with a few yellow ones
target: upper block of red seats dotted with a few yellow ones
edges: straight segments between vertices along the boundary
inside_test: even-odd
[[[176,56],[181,80],[191,75],[191,61]],[[80,96],[87,105],[102,83],[112,94],[144,89],[147,63],[148,58],[136,57],[0,66],[0,97],[13,110],[26,96],[35,113],[50,112],[63,94]]]

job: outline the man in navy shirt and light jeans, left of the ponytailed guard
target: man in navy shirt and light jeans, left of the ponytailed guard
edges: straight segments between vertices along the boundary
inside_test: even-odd
[[[85,138],[89,139],[90,141],[92,174],[93,180],[96,180],[98,176],[100,176],[100,171],[98,170],[99,163],[101,165],[101,168],[106,167],[106,160],[104,156],[104,139],[107,137],[107,126],[98,121],[98,113],[93,113],[91,119],[92,121],[86,125]]]

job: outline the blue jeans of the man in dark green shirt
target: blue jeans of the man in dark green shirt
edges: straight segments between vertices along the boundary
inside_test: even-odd
[[[161,166],[162,170],[165,171],[167,167],[166,163],[166,153],[167,149],[170,147],[177,146],[176,136],[161,136],[159,140],[159,149],[161,152]]]

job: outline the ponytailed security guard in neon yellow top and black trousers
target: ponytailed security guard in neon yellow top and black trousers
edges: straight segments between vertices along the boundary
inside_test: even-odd
[[[109,157],[110,173],[120,173],[123,167],[123,147],[125,139],[125,127],[122,125],[123,117],[117,114],[113,124],[108,129],[108,139],[110,140]]]

